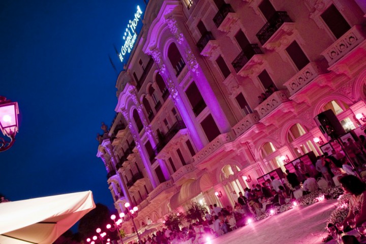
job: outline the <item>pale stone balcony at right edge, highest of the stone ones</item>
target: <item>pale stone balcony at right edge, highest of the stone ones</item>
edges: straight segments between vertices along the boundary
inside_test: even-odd
[[[328,61],[329,66],[332,66],[364,40],[365,34],[362,27],[355,25],[321,54]]]

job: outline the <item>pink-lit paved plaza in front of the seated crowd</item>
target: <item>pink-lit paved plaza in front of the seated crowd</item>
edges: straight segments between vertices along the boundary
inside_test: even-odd
[[[327,235],[325,223],[337,200],[298,207],[234,230],[212,240],[212,244],[321,243]]]

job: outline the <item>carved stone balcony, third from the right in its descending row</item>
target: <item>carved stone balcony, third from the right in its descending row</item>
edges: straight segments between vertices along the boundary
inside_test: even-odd
[[[282,103],[287,101],[289,101],[289,99],[287,98],[286,90],[278,90],[259,104],[254,110],[258,112],[260,118],[263,118]]]

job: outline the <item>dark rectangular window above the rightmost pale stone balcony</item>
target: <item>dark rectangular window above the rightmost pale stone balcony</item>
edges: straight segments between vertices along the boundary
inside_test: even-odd
[[[346,19],[333,4],[330,5],[320,17],[337,39],[342,37],[343,34],[351,28]]]

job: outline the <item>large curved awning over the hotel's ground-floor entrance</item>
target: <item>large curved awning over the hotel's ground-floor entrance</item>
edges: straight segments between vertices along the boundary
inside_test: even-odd
[[[211,187],[212,181],[208,174],[204,174],[198,179],[189,179],[181,186],[180,191],[170,198],[170,207],[176,209],[201,192],[209,190]]]

